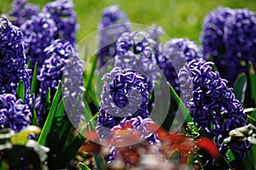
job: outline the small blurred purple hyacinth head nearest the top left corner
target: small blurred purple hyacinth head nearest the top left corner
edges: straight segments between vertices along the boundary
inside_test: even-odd
[[[36,4],[27,3],[27,0],[15,0],[11,4],[12,10],[9,12],[13,25],[20,27],[26,20],[39,13]]]

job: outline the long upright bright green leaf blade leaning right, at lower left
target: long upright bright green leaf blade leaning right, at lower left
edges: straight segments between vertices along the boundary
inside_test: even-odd
[[[46,122],[44,123],[42,133],[39,136],[38,144],[42,144],[42,145],[46,144],[46,139],[47,139],[47,136],[49,135],[50,129],[52,127],[54,117],[55,117],[55,111],[57,109],[60,99],[61,99],[61,82],[58,85],[55,97],[54,97],[52,105],[49,109],[49,115],[47,116]]]

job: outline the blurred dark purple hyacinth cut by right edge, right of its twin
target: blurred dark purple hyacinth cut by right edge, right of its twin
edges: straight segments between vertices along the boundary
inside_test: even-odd
[[[255,63],[256,17],[255,13],[243,8],[235,9],[224,26],[226,65],[230,72],[226,78],[233,84],[241,72],[247,72],[248,61]]]

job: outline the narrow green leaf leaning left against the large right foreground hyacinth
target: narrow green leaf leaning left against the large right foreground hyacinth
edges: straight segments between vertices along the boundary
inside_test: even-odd
[[[178,97],[177,93],[172,88],[172,85],[169,82],[167,82],[167,84],[169,86],[169,89],[173,96],[173,99],[176,101],[176,103],[178,105],[178,108],[182,112],[183,116],[186,118],[186,122],[193,122],[193,119],[190,116],[189,111],[185,108],[185,105],[183,104],[183,100]]]

